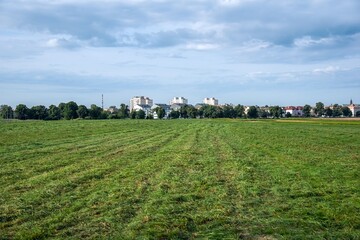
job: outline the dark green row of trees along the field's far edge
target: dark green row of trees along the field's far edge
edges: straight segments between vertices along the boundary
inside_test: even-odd
[[[111,109],[111,111],[110,111]],[[348,107],[334,104],[332,107],[325,107],[322,102],[316,103],[312,108],[305,105],[302,109],[302,117],[351,117],[352,112]],[[250,106],[247,111],[243,105],[224,105],[213,106],[203,105],[195,108],[192,105],[181,106],[178,110],[171,110],[166,116],[165,109],[161,107],[155,108],[151,113],[146,114],[143,110],[130,111],[126,104],[121,104],[120,108],[111,106],[105,111],[96,104],[92,104],[90,108],[85,105],[78,105],[74,101],[68,103],[60,103],[58,106],[50,105],[48,108],[44,105],[27,107],[25,104],[19,104],[15,109],[11,106],[0,106],[0,117],[3,119],[35,119],[35,120],[60,120],[60,119],[153,119],[154,115],[159,119],[165,117],[169,119],[178,118],[281,118],[293,117],[290,113],[284,114],[284,109],[280,106]],[[356,117],[360,117],[360,112]]]

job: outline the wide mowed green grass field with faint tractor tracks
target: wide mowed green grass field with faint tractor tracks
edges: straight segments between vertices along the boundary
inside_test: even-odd
[[[360,238],[360,121],[2,121],[0,133],[0,239]]]

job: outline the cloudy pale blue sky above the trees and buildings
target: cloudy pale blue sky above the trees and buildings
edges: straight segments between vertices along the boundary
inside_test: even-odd
[[[358,0],[0,0],[0,105],[360,103]]]

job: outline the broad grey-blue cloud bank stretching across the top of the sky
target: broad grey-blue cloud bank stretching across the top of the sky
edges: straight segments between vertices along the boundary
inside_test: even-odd
[[[360,33],[360,2],[356,0],[57,1],[57,4],[11,1],[0,4],[6,26],[68,34],[92,46],[157,48],[192,41],[238,46],[258,39],[292,48],[298,47],[294,44],[296,41],[301,44],[302,40],[305,44],[306,37],[318,41]],[[204,33],[204,29],[191,27],[196,23],[222,28]],[[341,41],[338,39],[336,42]]]

